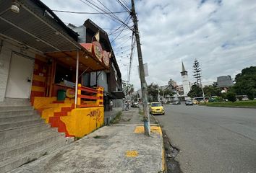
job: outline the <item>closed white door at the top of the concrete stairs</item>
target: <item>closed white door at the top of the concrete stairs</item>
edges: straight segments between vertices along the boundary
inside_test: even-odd
[[[5,97],[30,98],[34,60],[12,53]]]

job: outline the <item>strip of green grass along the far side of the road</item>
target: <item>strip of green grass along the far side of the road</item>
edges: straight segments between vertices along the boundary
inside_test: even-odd
[[[210,107],[256,107],[256,100],[252,101],[236,101],[236,102],[208,102],[200,105]]]

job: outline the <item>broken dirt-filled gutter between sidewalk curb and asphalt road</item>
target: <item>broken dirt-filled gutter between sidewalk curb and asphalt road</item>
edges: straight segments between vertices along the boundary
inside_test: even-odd
[[[171,142],[165,130],[162,129],[162,133],[163,146],[166,154],[167,173],[182,173],[182,170],[179,167],[179,162],[175,160],[175,156],[179,154],[179,148],[171,146]]]

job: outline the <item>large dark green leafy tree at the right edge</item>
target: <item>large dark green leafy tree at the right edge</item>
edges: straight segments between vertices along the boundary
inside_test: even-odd
[[[236,94],[247,95],[249,99],[254,99],[256,94],[256,66],[242,69],[241,74],[235,78],[236,84],[233,90]]]

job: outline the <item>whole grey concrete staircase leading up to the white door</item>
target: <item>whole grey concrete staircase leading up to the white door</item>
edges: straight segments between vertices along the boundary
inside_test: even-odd
[[[71,141],[46,124],[28,99],[0,102],[0,172],[9,172]]]

